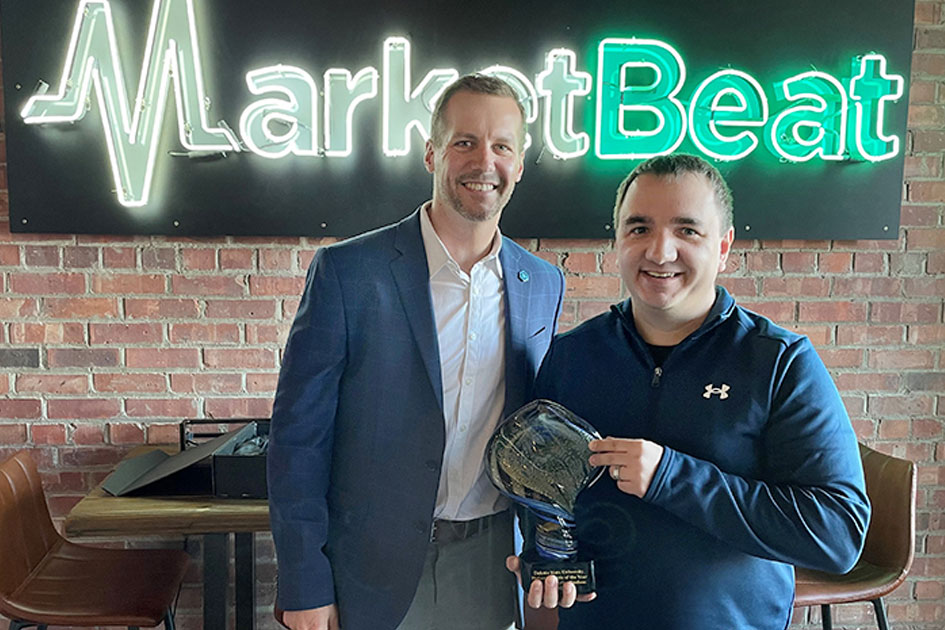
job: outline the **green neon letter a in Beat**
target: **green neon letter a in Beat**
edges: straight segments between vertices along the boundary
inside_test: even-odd
[[[771,121],[769,148],[789,162],[846,158],[847,94],[836,78],[804,72],[775,85],[779,101],[797,103]]]

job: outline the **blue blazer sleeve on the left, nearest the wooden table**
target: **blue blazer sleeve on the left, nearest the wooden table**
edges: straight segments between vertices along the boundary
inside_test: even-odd
[[[331,249],[323,248],[309,267],[286,342],[270,428],[269,513],[283,610],[317,608],[335,599],[324,547],[346,343],[341,286]]]

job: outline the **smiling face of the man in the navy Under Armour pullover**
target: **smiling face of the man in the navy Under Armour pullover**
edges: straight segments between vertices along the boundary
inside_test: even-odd
[[[645,174],[630,184],[620,207],[617,256],[643,328],[688,334],[699,327],[735,235],[723,230],[715,191],[702,175]]]

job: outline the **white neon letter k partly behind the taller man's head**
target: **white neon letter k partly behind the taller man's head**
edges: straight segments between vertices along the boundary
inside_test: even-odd
[[[459,78],[459,72],[452,68],[431,70],[411,91],[410,40],[404,37],[384,40],[383,71],[384,155],[407,155],[410,153],[410,131],[416,129],[424,142],[430,137],[427,125],[436,99]]]

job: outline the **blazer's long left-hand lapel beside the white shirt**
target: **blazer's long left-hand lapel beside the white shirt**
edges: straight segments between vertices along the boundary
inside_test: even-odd
[[[390,263],[391,274],[400,293],[400,301],[407,313],[407,321],[417,351],[427,368],[427,376],[436,400],[443,410],[443,379],[440,373],[440,347],[433,320],[433,298],[430,296],[430,271],[426,251],[420,235],[420,211],[404,219],[397,226],[394,248],[400,255]]]

